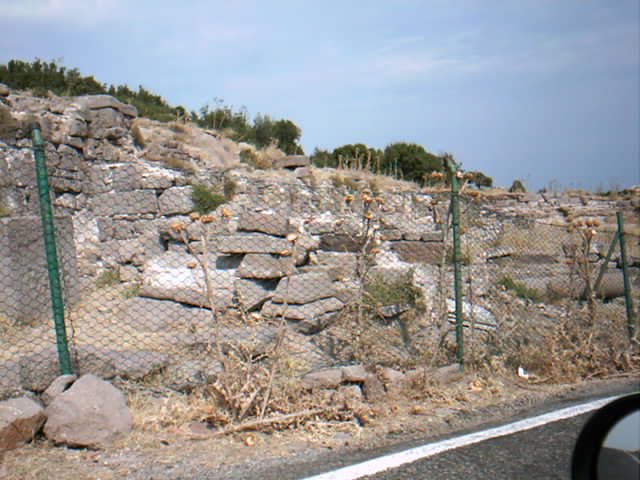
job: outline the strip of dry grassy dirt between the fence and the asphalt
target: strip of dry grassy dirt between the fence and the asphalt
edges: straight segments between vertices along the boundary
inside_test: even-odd
[[[327,454],[357,457],[364,451],[500,423],[568,401],[638,389],[640,374],[570,385],[532,384],[517,376],[487,380],[468,374],[437,391],[398,392],[373,405],[371,415],[361,421],[311,418],[282,431],[225,437],[188,423],[137,427],[125,441],[101,451],[57,447],[38,438],[0,456],[0,478],[254,478],[252,469],[268,464],[307,462]],[[136,424],[142,424],[140,419]]]

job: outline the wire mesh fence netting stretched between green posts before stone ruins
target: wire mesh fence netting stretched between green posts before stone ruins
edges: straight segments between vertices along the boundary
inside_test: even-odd
[[[100,171],[111,190],[83,204],[51,181],[74,373],[209,386],[243,418],[310,371],[455,358],[447,192],[226,179],[224,198],[164,173]],[[580,221],[504,216],[463,196],[465,361],[553,375],[550,349],[590,348],[575,328],[595,322],[605,360],[624,368],[619,247],[607,258],[616,232]],[[0,249],[0,396],[42,391],[59,364],[40,219],[0,219]],[[594,352],[592,371],[603,358]]]

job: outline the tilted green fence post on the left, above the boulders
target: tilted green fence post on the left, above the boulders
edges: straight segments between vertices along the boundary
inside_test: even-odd
[[[62,287],[60,284],[60,268],[58,266],[58,254],[56,250],[56,234],[53,226],[53,210],[51,197],[49,196],[49,179],[44,155],[42,134],[40,125],[34,123],[31,128],[33,141],[33,156],[36,161],[36,182],[38,185],[38,199],[40,203],[40,218],[44,233],[44,247],[47,257],[47,273],[49,275],[49,288],[51,292],[51,308],[56,332],[56,347],[58,350],[58,362],[62,375],[73,373],[71,370],[71,358],[67,344],[67,332],[64,325],[64,304],[62,302]]]

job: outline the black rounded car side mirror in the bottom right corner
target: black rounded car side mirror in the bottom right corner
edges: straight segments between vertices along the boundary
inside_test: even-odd
[[[640,393],[593,414],[578,437],[571,473],[575,480],[640,478]]]

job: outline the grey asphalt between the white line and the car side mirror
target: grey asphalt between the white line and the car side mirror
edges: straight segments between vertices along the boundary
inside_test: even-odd
[[[573,446],[590,415],[584,414],[509,436],[485,440],[364,478],[569,480]]]

